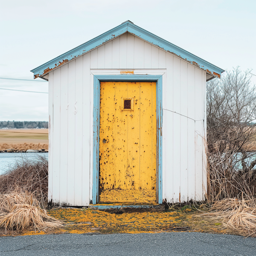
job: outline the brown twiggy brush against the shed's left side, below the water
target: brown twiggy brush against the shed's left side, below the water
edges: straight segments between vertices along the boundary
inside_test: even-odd
[[[38,156],[37,160],[31,161],[23,157],[22,161],[17,161],[12,170],[0,175],[0,194],[24,191],[33,193],[33,196],[40,201],[41,207],[47,203],[47,158]]]

